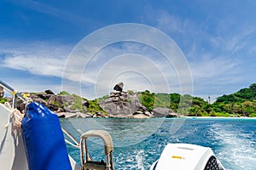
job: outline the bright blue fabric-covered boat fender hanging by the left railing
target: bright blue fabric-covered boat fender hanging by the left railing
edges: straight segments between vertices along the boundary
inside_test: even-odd
[[[44,105],[26,106],[22,136],[30,170],[71,170],[58,116]]]

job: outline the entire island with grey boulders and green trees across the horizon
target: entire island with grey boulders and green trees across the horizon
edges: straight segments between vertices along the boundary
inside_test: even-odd
[[[177,117],[177,116],[256,116],[256,83],[241,88],[234,94],[224,94],[210,103],[200,97],[189,94],[165,94],[133,92],[123,90],[124,83],[119,82],[113,92],[98,99],[84,99],[76,94],[62,91],[54,94],[51,90],[41,93],[24,93],[33,101],[46,105],[61,117]],[[11,98],[3,96],[0,87],[0,102],[9,102]],[[210,97],[209,97],[210,99]],[[183,102],[181,102],[183,101]],[[25,105],[18,101],[18,109],[24,111]],[[178,115],[177,115],[178,112]]]

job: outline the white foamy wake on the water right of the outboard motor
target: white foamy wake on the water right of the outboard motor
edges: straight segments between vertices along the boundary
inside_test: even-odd
[[[245,131],[237,125],[219,123],[212,124],[211,131],[213,139],[218,141],[220,147],[216,155],[227,170],[249,170],[256,167],[256,141],[253,131]]]

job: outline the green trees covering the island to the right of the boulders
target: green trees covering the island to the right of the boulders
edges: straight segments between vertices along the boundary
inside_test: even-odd
[[[218,97],[213,104],[189,94],[151,94],[148,90],[140,94],[139,99],[148,111],[166,107],[184,116],[256,116],[256,83],[235,94]]]

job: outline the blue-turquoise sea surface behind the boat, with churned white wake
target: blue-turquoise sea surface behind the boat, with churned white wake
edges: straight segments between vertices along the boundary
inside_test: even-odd
[[[70,118],[61,125],[79,139],[87,130],[102,129],[113,138],[115,169],[149,169],[168,143],[211,147],[227,170],[256,169],[256,119],[177,118],[123,119]],[[90,156],[104,159],[100,139],[89,140]],[[75,161],[79,149],[67,144]]]

